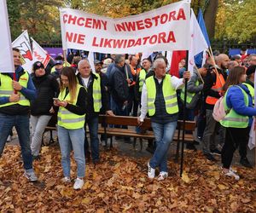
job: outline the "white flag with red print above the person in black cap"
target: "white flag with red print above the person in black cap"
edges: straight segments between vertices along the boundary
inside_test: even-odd
[[[31,37],[32,40],[32,53],[33,53],[33,60],[41,61],[46,67],[49,63],[50,56],[45,52],[45,50]]]

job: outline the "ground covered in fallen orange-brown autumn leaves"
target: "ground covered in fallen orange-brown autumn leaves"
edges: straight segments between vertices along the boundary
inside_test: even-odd
[[[0,158],[1,212],[255,212],[256,171],[235,168],[240,181],[224,177],[218,165],[201,153],[185,153],[183,178],[169,161],[165,181],[148,180],[148,158],[102,152],[102,164],[86,164],[84,187],[61,182],[58,147],[43,147],[34,166],[39,176],[31,183],[23,176],[19,146],[7,146]],[[72,163],[75,178],[75,164]]]

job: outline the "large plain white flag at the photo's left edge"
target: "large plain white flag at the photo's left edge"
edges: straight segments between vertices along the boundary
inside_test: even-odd
[[[0,72],[15,72],[6,1],[0,1]]]

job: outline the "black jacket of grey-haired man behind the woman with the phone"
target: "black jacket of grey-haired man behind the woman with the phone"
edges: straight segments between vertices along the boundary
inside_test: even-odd
[[[84,82],[80,76],[80,73],[77,74],[77,78],[79,80],[79,84],[84,86]],[[92,118],[92,117],[98,116],[98,114],[99,114],[99,112],[94,111],[94,107],[93,107],[92,92],[93,92],[94,79],[97,79],[97,77],[94,73],[91,72],[89,84],[86,89],[86,100],[85,100],[85,102],[86,102],[86,118]],[[110,108],[109,108],[109,104],[108,104],[108,93],[107,93],[107,90],[105,89],[102,79],[101,79],[101,92],[102,92],[102,110],[101,110],[101,112],[106,112],[106,111],[110,110]]]

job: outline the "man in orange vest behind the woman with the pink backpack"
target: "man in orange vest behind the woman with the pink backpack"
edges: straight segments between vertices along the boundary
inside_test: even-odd
[[[229,56],[220,54],[216,57],[217,68],[213,66],[207,70],[204,78],[203,92],[206,97],[207,124],[202,137],[202,151],[205,157],[211,161],[217,161],[212,154],[220,155],[218,150],[218,142],[224,142],[224,128],[212,117],[213,107],[218,99],[223,95],[223,85],[227,74],[225,70],[228,68]],[[215,139],[218,135],[219,141]]]

